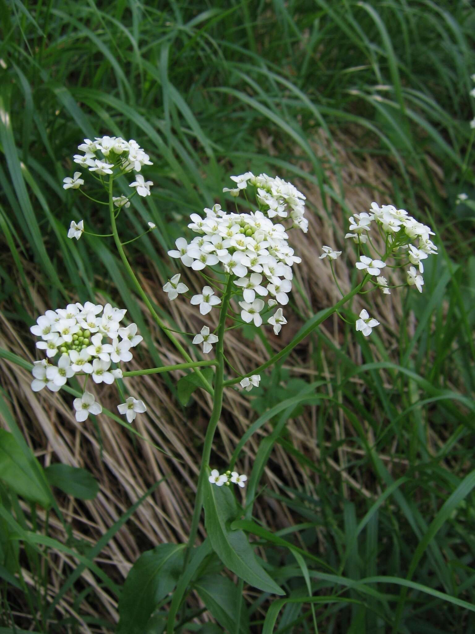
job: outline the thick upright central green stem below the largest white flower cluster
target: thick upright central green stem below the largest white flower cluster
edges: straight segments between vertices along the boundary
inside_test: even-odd
[[[227,307],[229,305],[229,298],[231,297],[232,290],[232,275],[229,274],[227,278],[226,287],[224,290],[223,299],[221,302],[221,310],[219,313],[219,327],[218,327],[218,342],[216,344],[216,361],[217,368],[215,373],[215,391],[213,396],[213,411],[211,413],[210,422],[208,423],[208,429],[206,429],[205,444],[203,445],[203,455],[201,456],[200,475],[198,476],[198,486],[196,488],[196,498],[194,503],[193,519],[191,520],[191,528],[188,540],[188,548],[185,555],[185,566],[188,562],[188,558],[191,549],[196,540],[196,534],[198,533],[198,526],[200,524],[201,508],[203,508],[203,485],[206,482],[207,469],[210,464],[211,449],[213,446],[213,439],[215,431],[218,426],[219,418],[221,415],[221,408],[223,403],[223,389],[224,389],[224,330],[226,323]]]

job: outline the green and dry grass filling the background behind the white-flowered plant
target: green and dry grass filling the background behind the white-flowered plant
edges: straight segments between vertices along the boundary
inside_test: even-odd
[[[61,186],[84,137],[134,138],[151,155],[153,195],[122,211],[120,232],[129,240],[149,219],[157,224],[129,256],[159,314],[187,332],[200,325],[193,311],[167,302],[161,289],[177,271],[167,249],[189,213],[224,206],[229,175],[248,169],[279,174],[307,195],[310,231],[294,243],[303,263],[288,326],[269,342],[252,328],[229,333],[228,358],[244,372],[336,301],[326,263],[317,260],[322,244],[345,251],[336,273],[350,288],[355,256],[343,236],[352,212],[377,200],[433,226],[440,255],[428,261],[424,293],[365,296],[350,311],[377,313],[383,326],[370,340],[330,320],[263,378],[258,393],[229,391],[215,456],[225,467],[263,417],[239,465],[264,470],[257,520],[332,567],[332,579],[315,569],[314,595],[348,599],[317,607],[321,631],[475,631],[471,610],[434,594],[474,603],[474,212],[455,205],[462,191],[475,198],[471,5],[1,0],[0,21],[0,345],[7,353],[32,360],[29,327],[38,314],[96,297],[127,307],[139,325],[146,345],[136,368],[181,361],[130,290],[112,243],[66,238],[71,219],[108,233],[102,210]],[[184,274],[198,288],[200,280]],[[105,416],[97,426],[77,424],[70,396],[33,394],[28,372],[8,359],[0,365],[4,426],[13,415],[42,464],[84,466],[99,479],[94,501],[58,496],[75,548],[95,543],[164,476],[96,563],[122,584],[143,550],[186,540],[206,394],[182,408],[175,394],[182,373],[126,382],[149,406],[136,429],[170,458]],[[99,389],[98,398],[115,410],[114,396]],[[266,417],[279,403],[281,411]],[[15,516],[44,531],[46,517],[21,501]],[[65,541],[53,517],[48,530]],[[269,565],[290,563],[265,544],[260,554]],[[23,559],[39,605],[51,605],[76,566],[66,553],[49,557],[46,597]],[[364,578],[379,580],[359,583]],[[296,581],[286,583],[298,596]],[[9,606],[0,625],[30,628],[25,593],[7,583],[0,592]],[[349,601],[362,598],[362,605]],[[269,603],[253,588],[244,599],[252,631],[262,631]],[[187,606],[196,618],[182,631],[210,626],[196,593]],[[308,604],[288,604],[276,631],[309,631],[309,616]],[[45,631],[113,631],[114,623],[117,597],[85,571],[58,599]]]

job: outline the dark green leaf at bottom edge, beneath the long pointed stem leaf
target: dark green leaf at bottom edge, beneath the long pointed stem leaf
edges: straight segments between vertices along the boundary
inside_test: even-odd
[[[239,605],[239,588],[222,574],[209,574],[193,584],[206,608],[225,630],[236,631],[236,606]],[[249,632],[249,616],[244,600],[241,600],[239,632]]]

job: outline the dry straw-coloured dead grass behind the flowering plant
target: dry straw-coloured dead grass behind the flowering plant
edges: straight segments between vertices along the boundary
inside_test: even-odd
[[[325,139],[320,139],[320,141]],[[361,183],[378,183],[379,191],[390,191],[390,165],[384,165],[379,160],[374,160],[370,155],[364,158],[355,158],[351,152],[355,139],[349,136],[334,137],[338,162],[341,165],[341,195],[348,209],[358,212],[369,209],[372,200],[383,200],[379,193],[362,187]],[[321,143],[315,144],[315,151],[320,152]],[[350,148],[350,149],[348,149]],[[305,167],[305,166],[304,166]],[[330,176],[330,178],[332,178]],[[322,210],[322,200],[317,188],[308,189],[302,183],[296,183],[307,195],[309,207],[308,216],[310,228],[307,235],[295,232],[291,236],[291,242],[295,250],[302,257],[300,266],[296,267],[296,279],[300,283],[305,295],[310,298],[311,309],[307,306],[301,295],[295,292],[298,311],[307,319],[311,314],[323,307],[333,304],[338,299],[336,289],[331,277],[331,271],[327,260],[320,260],[320,247],[322,245],[338,245],[345,250],[348,257],[336,262],[336,275],[343,288],[350,288],[351,264],[355,255],[353,250],[345,244],[347,214],[337,204],[332,204],[331,216],[328,217]],[[334,188],[339,189],[339,183],[334,178]],[[315,214],[310,212],[315,210]],[[162,256],[164,254],[161,254]],[[187,272],[186,272],[187,273]],[[186,275],[185,273],[185,275]],[[42,310],[51,308],[47,304],[47,297],[41,286],[39,271],[34,266],[27,265],[27,274],[31,280],[32,292],[35,293],[37,306]],[[172,318],[178,327],[186,332],[197,332],[200,323],[196,320],[196,311],[191,309],[186,302],[168,302],[162,292],[163,283],[166,280],[160,278],[157,269],[150,262],[144,267],[139,276],[143,287],[149,294],[160,302],[163,308],[170,311]],[[186,276],[186,283],[192,289],[198,289],[201,281],[198,277]],[[74,298],[71,298],[72,301]],[[100,297],[96,298],[101,301]],[[378,297],[373,294],[372,301],[377,304],[377,313],[381,321],[392,328],[396,328],[398,316],[401,313],[400,297],[393,292],[390,297]],[[358,307],[355,304],[354,309]],[[141,306],[144,315],[146,308]],[[2,306],[1,338],[0,346],[32,361],[34,359],[34,342],[27,333],[18,333],[13,323],[6,315],[11,307]],[[289,319],[289,324],[282,329],[279,338],[269,335],[272,349],[278,351],[284,346],[295,332],[300,328],[302,321],[296,316]],[[163,364],[180,363],[174,347],[162,332],[149,321],[149,328],[153,333],[156,349],[160,353]],[[326,336],[336,346],[340,342],[340,323],[338,318],[328,320],[322,326]],[[179,336],[179,335],[178,335]],[[382,333],[382,336],[384,334]],[[391,344],[388,340],[388,350]],[[286,359],[285,368],[291,370],[293,376],[301,376],[306,380],[312,378],[330,379],[327,369],[323,377],[317,377],[312,361],[310,360],[312,344],[299,346],[294,353]],[[329,368],[331,363],[326,363],[325,350],[322,351],[322,363],[324,368]],[[350,354],[356,363],[361,362],[358,346],[350,347]],[[243,372],[248,372],[253,366],[260,365],[267,359],[267,353],[260,340],[256,339],[252,344],[243,339],[239,330],[232,330],[227,336],[227,356],[234,367]],[[377,358],[377,353],[375,352]],[[151,366],[153,363],[144,354],[143,359],[134,359],[127,366],[128,370]],[[136,429],[162,448],[167,454],[175,456],[170,458],[165,453],[156,451],[149,444],[137,441],[124,427],[109,420],[104,415],[98,417],[101,432],[102,451],[94,424],[87,420],[84,424],[76,422],[72,413],[72,397],[65,392],[53,394],[47,390],[35,394],[30,389],[30,374],[11,363],[0,360],[1,385],[11,398],[11,410],[42,465],[47,466],[52,462],[62,462],[77,467],[85,467],[100,482],[100,492],[93,501],[76,501],[68,496],[59,496],[60,506],[65,517],[73,526],[73,534],[78,540],[94,543],[99,536],[111,527],[125,510],[132,505],[144,491],[158,479],[165,478],[155,493],[141,505],[136,514],[117,533],[96,560],[106,566],[108,574],[122,583],[133,562],[144,550],[163,542],[186,541],[189,521],[193,510],[194,491],[200,463],[200,448],[206,430],[206,424],[210,416],[212,401],[210,396],[203,391],[195,393],[196,401],[189,408],[182,408],[167,389],[162,375],[149,375],[142,378],[127,378],[127,385],[136,398],[141,398],[148,404],[148,412],[136,418]],[[172,373],[172,379],[177,380],[182,372]],[[89,385],[89,389],[91,389]],[[94,385],[96,398],[103,406],[115,411],[117,398],[111,397],[110,390]],[[331,386],[329,385],[329,389]],[[339,398],[339,395],[336,395]],[[269,403],[272,406],[273,403]],[[225,392],[224,410],[219,425],[213,451],[213,463],[219,467],[227,464],[231,453],[243,432],[248,429],[250,423],[255,420],[256,414],[250,408],[250,400],[246,394],[228,389]],[[319,462],[319,448],[316,443],[316,410],[308,406],[305,413],[295,420],[289,420],[288,430],[298,450],[302,451],[310,460]],[[363,422],[364,423],[364,422]],[[348,422],[343,414],[338,420],[334,420],[334,429],[329,429],[329,437],[345,439]],[[6,427],[6,425],[4,424]],[[239,469],[249,472],[253,457],[258,448],[260,439],[269,433],[270,426],[265,425],[246,444]],[[358,455],[358,450],[343,446],[334,455],[329,464],[334,469],[335,475],[340,474],[348,495],[350,491],[356,491],[352,495],[371,497],[376,492],[365,487],[364,477],[355,480],[346,472],[346,463],[349,458]],[[381,456],[383,459],[387,456]],[[282,475],[284,474],[284,475]],[[317,476],[308,472],[303,474],[301,466],[293,458],[284,452],[280,446],[276,446],[267,467],[265,482],[270,491],[279,491],[281,484],[304,489],[311,493],[314,489]],[[284,478],[284,481],[282,481]],[[302,482],[304,484],[302,484]],[[25,509],[27,510],[27,509]],[[255,514],[273,529],[289,526],[293,523],[293,517],[289,509],[278,501],[261,496],[255,505]],[[41,520],[41,518],[40,518]],[[58,539],[64,540],[60,524],[52,525],[53,534]],[[200,537],[205,534],[204,527],[200,527]],[[61,553],[51,554],[51,577],[48,593],[51,597],[57,592],[61,584],[61,573],[66,567],[74,567],[70,557]],[[27,577],[28,578],[28,577]],[[94,585],[96,582],[91,573],[85,571],[82,575],[85,585]],[[97,588],[94,594],[94,604],[87,602],[83,608],[91,614],[102,614],[111,621],[117,621],[117,605],[104,590]],[[198,599],[195,599],[198,601]],[[63,614],[72,614],[70,601],[66,598],[60,604]],[[89,632],[87,624],[83,623],[81,631]]]

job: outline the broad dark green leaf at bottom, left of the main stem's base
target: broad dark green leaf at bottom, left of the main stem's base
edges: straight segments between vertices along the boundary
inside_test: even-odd
[[[184,548],[184,544],[160,544],[137,559],[120,595],[117,634],[143,634],[158,603],[179,579]]]

